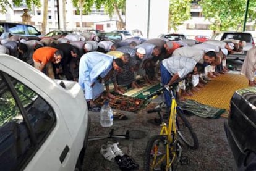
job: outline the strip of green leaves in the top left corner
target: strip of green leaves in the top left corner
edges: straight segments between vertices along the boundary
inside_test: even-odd
[[[22,0],[12,0],[11,3],[13,3],[15,6],[20,6],[22,3]],[[27,4],[27,7],[29,10],[31,10],[32,4],[36,7],[40,7],[40,0],[26,0],[25,3]],[[5,13],[8,9],[8,7],[12,8],[12,5],[8,0],[0,0],[0,6],[1,6],[1,12]]]

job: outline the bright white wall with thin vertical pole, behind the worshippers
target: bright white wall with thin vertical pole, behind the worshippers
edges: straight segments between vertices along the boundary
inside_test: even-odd
[[[145,38],[168,31],[169,0],[126,0],[126,29],[139,29]]]

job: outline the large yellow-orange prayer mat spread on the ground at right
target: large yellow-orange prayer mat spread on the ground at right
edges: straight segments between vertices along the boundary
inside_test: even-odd
[[[240,74],[226,73],[212,79],[200,91],[193,92],[193,96],[185,98],[229,111],[230,99],[234,91],[248,87],[247,78]]]

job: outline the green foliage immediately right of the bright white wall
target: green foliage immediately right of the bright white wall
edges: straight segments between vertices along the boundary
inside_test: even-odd
[[[170,0],[169,5],[169,28],[177,31],[177,26],[182,25],[184,21],[190,19],[191,0]]]

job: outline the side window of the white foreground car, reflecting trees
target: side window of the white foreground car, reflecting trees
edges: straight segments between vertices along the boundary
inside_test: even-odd
[[[53,109],[35,91],[0,73],[0,170],[20,170],[56,122]]]

